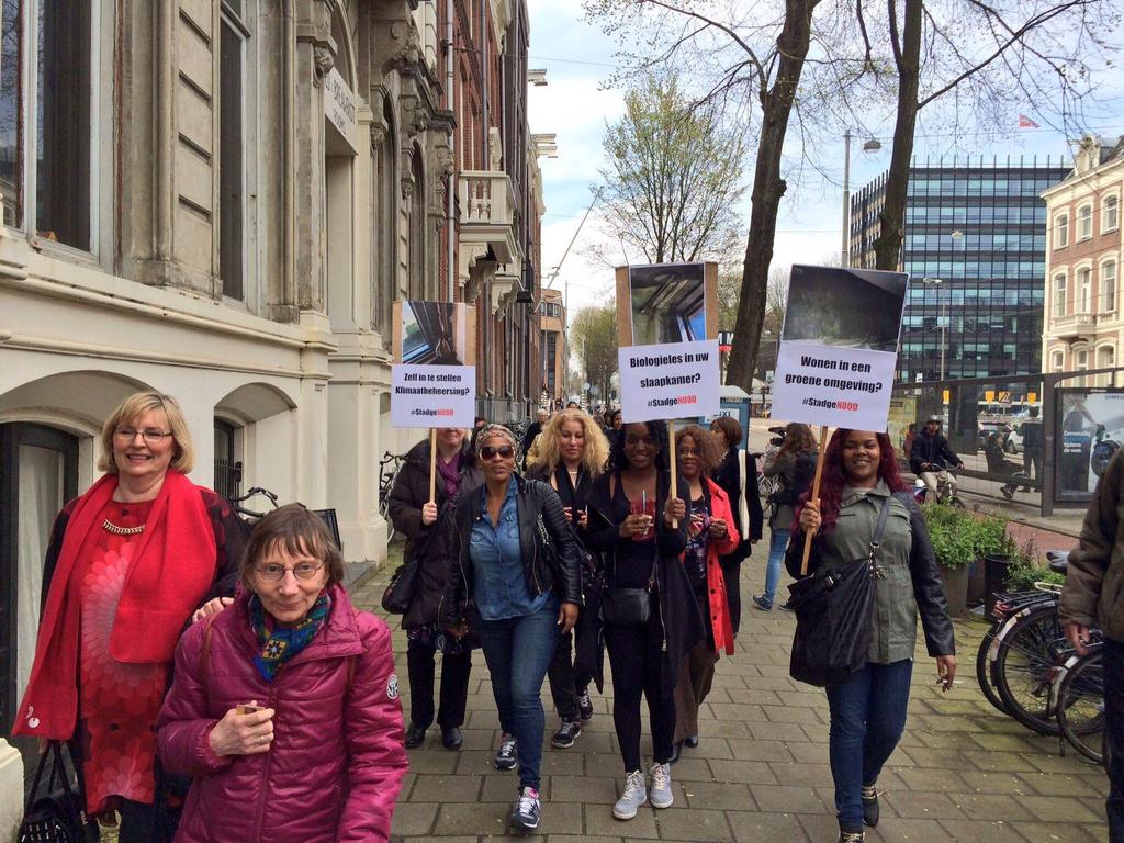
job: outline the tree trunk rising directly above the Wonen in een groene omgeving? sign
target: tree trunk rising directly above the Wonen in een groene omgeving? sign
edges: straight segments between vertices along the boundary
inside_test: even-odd
[[[886,202],[879,212],[874,241],[874,269],[897,270],[905,237],[906,193],[917,125],[917,87],[921,79],[921,36],[924,0],[906,0],[905,31],[898,58],[898,114],[894,124],[894,149],[886,176]]]

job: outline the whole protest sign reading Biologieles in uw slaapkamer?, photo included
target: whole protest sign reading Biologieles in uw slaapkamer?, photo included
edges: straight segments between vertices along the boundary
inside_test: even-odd
[[[718,413],[718,268],[617,269],[617,365],[625,422]]]

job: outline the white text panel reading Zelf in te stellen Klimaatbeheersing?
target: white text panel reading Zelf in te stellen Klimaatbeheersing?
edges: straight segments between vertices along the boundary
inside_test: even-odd
[[[477,368],[396,364],[390,368],[393,427],[472,427]]]

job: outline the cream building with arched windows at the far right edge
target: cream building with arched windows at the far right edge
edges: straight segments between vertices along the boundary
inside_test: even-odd
[[[1049,228],[1043,372],[1120,365],[1122,193],[1124,136],[1113,143],[1086,137],[1073,171],[1042,193]],[[1109,386],[1109,378],[1090,375],[1072,386]]]

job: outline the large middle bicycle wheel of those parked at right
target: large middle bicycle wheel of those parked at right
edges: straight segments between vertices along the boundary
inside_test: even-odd
[[[1057,735],[1053,680],[1069,645],[1055,602],[1025,611],[1001,634],[991,676],[1007,714],[1033,732]]]

